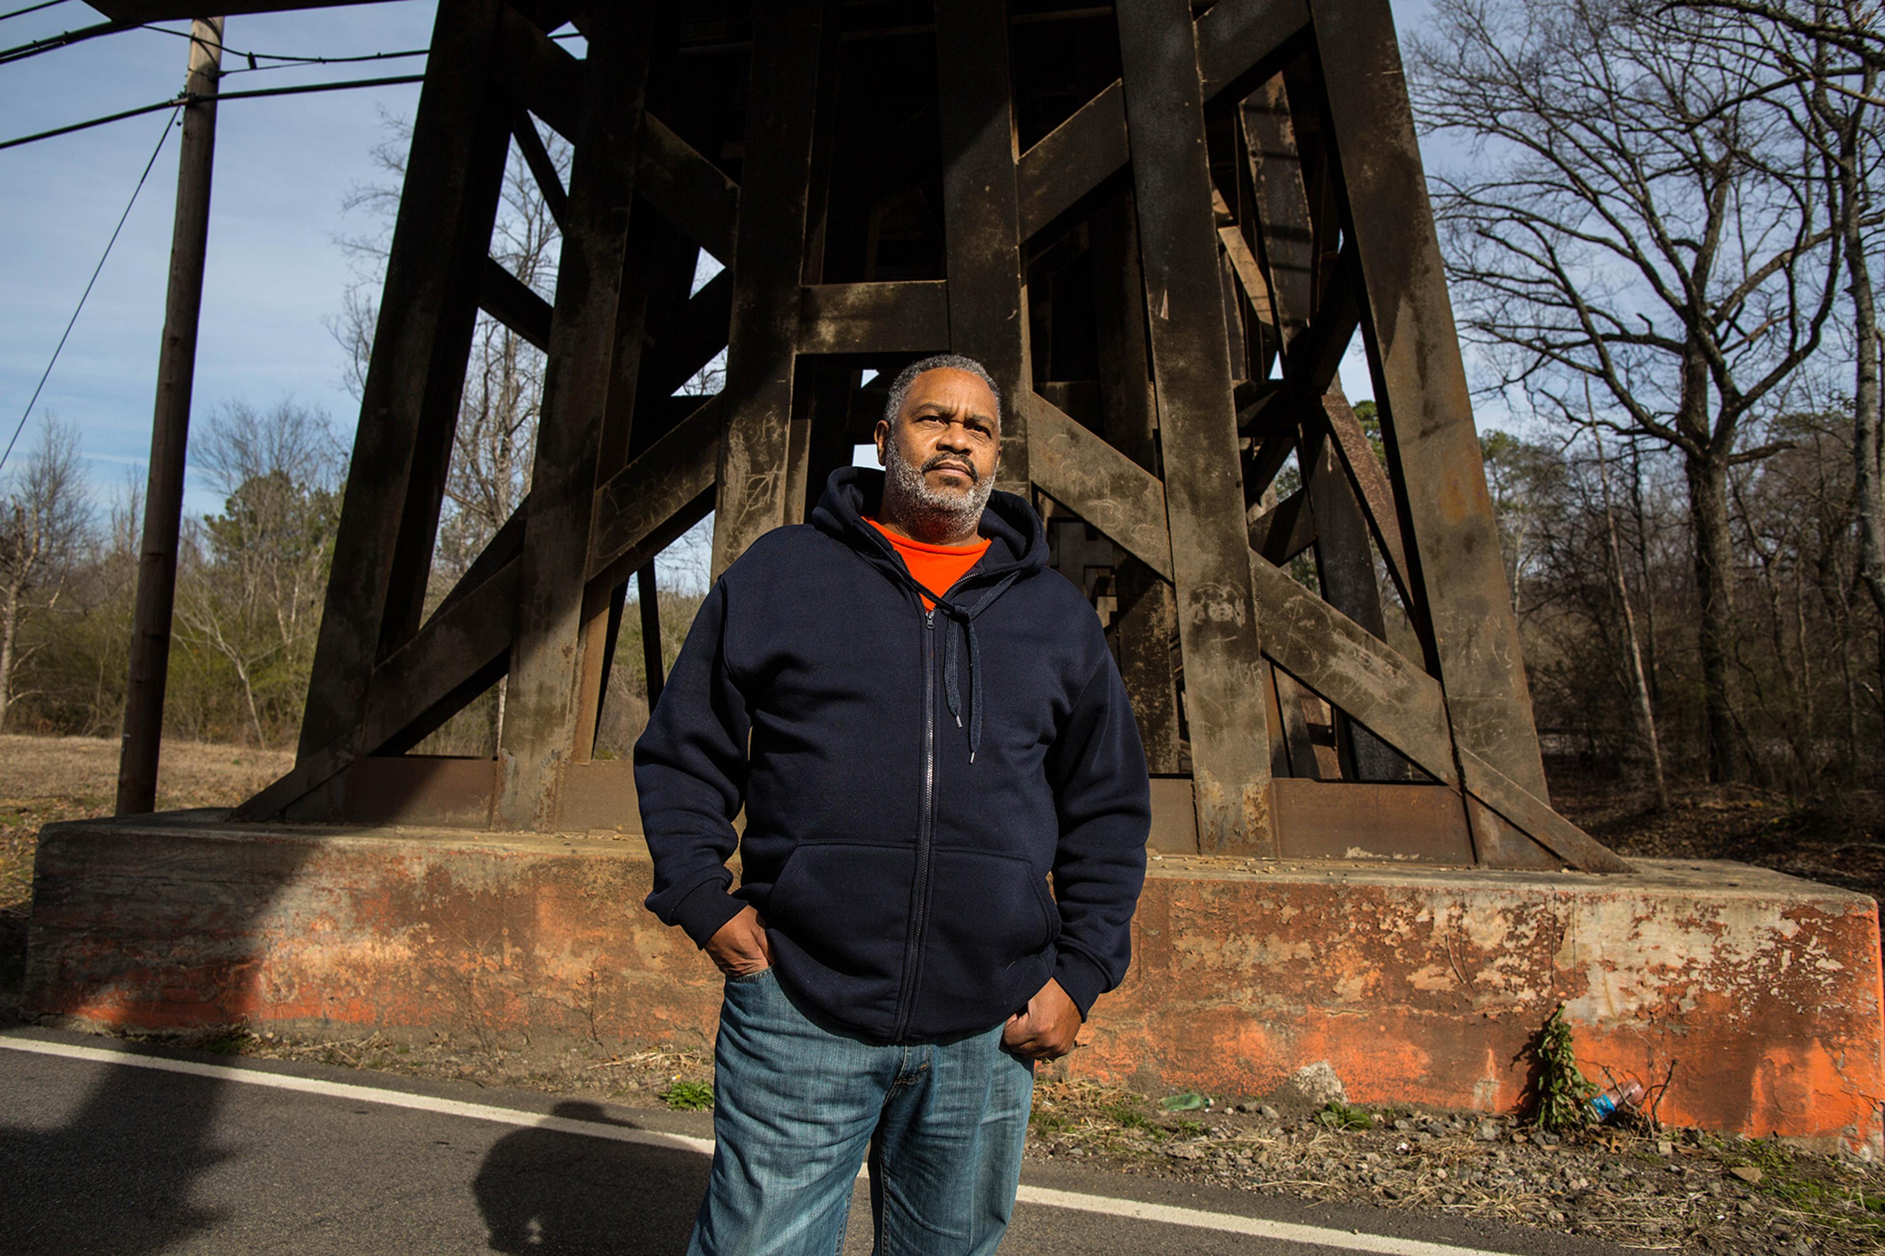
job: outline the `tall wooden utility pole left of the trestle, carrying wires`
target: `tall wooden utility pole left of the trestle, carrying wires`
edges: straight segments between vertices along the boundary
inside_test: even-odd
[[[119,758],[119,815],[139,815],[156,805],[156,752],[164,734],[170,613],[177,594],[183,456],[190,439],[196,319],[204,304],[221,66],[222,19],[198,17],[190,25],[190,68],[183,85],[188,104],[183,107],[183,155],[177,160],[164,343],[156,358],[151,481],[143,494],[143,549],[138,554],[138,607],[132,619],[130,686],[124,694],[124,745]]]

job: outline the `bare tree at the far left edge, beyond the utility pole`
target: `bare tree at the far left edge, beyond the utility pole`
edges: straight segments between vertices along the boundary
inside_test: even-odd
[[[21,628],[58,603],[85,521],[79,436],[47,415],[26,464],[0,488],[0,728],[19,698],[13,677],[30,653],[21,649]]]

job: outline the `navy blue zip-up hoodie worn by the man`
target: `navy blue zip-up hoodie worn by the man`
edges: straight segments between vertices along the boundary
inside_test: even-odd
[[[863,522],[882,487],[835,471],[707,594],[635,743],[648,909],[705,945],[756,905],[786,990],[882,1043],[988,1030],[1048,977],[1084,1016],[1125,975],[1152,822],[1118,668],[1027,502],[992,496],[926,613]]]

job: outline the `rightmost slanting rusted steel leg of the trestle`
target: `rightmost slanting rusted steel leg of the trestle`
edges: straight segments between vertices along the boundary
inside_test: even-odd
[[[1316,0],[1323,83],[1402,81],[1387,0]],[[1463,751],[1546,800],[1525,664],[1406,92],[1331,91],[1365,332],[1434,660]],[[1527,830],[1531,832],[1531,830]]]

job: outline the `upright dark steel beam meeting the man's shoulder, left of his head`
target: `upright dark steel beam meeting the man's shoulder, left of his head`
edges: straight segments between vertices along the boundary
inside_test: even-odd
[[[726,426],[713,530],[718,579],[760,536],[786,522],[799,287],[829,0],[763,4],[752,21],[746,158],[726,362]]]

